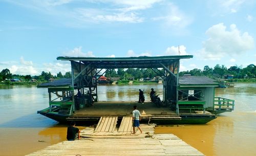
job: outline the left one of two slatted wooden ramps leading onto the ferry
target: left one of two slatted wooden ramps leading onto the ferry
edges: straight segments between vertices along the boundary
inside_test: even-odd
[[[100,117],[95,132],[114,132],[117,124],[117,117]]]

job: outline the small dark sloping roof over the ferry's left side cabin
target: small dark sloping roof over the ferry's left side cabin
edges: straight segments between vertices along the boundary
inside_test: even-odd
[[[52,82],[46,82],[38,84],[37,87],[61,87],[61,86],[70,86],[72,84],[72,80],[69,78],[62,78],[58,80],[54,80]]]

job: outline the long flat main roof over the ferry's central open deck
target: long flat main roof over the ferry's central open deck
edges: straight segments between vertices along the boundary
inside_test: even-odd
[[[193,55],[175,56],[140,56],[140,57],[57,57],[57,60],[81,61],[91,64],[96,69],[118,69],[118,68],[163,68],[161,65],[172,64],[179,59],[193,58]]]

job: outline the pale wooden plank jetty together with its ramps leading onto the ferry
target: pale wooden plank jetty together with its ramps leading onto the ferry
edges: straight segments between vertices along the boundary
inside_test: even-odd
[[[38,150],[32,155],[203,155],[173,134],[154,135],[155,125],[140,125],[132,134],[132,118],[123,117],[119,128],[117,117],[101,117],[96,129],[85,128],[81,140],[63,141]],[[114,130],[113,130],[114,129]]]

